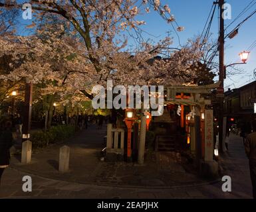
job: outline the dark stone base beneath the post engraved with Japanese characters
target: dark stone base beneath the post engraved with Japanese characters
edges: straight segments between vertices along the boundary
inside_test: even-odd
[[[215,160],[212,162],[200,161],[199,174],[203,178],[216,179],[219,178],[219,164]]]

